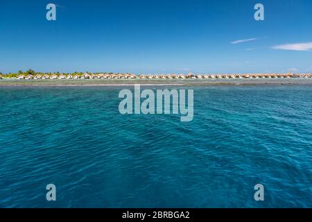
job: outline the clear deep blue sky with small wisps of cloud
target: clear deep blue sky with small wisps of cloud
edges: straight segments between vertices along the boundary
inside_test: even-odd
[[[311,44],[311,0],[0,1],[2,73],[312,72]]]

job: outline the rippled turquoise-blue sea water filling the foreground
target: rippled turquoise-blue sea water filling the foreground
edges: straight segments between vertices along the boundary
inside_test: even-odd
[[[312,207],[311,86],[194,87],[191,122],[119,90],[0,87],[0,207]]]

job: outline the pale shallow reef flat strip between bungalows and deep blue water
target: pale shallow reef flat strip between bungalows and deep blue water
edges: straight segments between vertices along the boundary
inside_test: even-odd
[[[17,80],[3,78],[0,87],[19,86],[101,86],[122,87],[140,84],[142,86],[209,86],[209,85],[312,85],[312,78],[229,78],[229,79],[78,79],[78,80]]]

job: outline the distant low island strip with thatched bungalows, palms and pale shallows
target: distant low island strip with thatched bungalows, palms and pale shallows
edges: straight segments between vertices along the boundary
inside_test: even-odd
[[[42,73],[32,69],[17,74],[0,74],[0,86],[75,85],[312,85],[312,74],[121,74]]]

